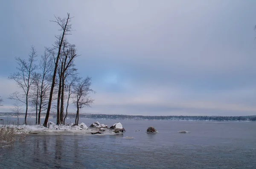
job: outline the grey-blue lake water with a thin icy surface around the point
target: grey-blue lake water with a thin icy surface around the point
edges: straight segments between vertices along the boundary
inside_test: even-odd
[[[79,122],[90,126],[94,121],[109,127],[118,122]],[[256,168],[256,122],[119,122],[126,130],[123,135],[31,135],[0,149],[0,168]],[[146,134],[149,126],[159,133]]]

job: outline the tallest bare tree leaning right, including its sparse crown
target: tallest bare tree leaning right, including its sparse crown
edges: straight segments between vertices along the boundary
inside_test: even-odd
[[[52,21],[52,22],[57,23],[61,27],[60,30],[62,31],[62,34],[59,36],[56,36],[56,42],[54,45],[54,48],[56,50],[58,50],[58,54],[55,57],[55,68],[54,68],[54,72],[53,72],[53,76],[52,76],[52,86],[51,86],[51,90],[49,93],[49,102],[48,102],[46,117],[44,120],[44,127],[47,127],[47,122],[48,122],[49,113],[50,113],[50,109],[51,109],[53,89],[55,86],[55,78],[56,78],[56,73],[57,73],[57,68],[58,68],[58,60],[59,60],[59,57],[61,54],[62,43],[63,43],[65,35],[70,34],[71,26],[72,26],[71,24],[69,24],[69,22],[71,21],[69,13],[67,14],[67,18],[55,17],[55,19],[56,20]]]

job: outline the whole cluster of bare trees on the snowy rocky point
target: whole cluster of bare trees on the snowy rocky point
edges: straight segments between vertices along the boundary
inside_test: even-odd
[[[47,127],[49,114],[53,112],[57,113],[56,124],[65,124],[69,102],[72,101],[76,107],[75,124],[78,125],[80,109],[84,106],[90,107],[94,101],[89,96],[94,93],[90,88],[91,78],[79,77],[74,64],[79,55],[76,53],[76,45],[70,44],[67,39],[72,31],[71,19],[70,14],[67,14],[65,18],[55,17],[51,21],[60,27],[61,34],[55,36],[53,47],[45,48],[39,60],[34,46],[28,59],[15,58],[17,71],[10,74],[9,79],[16,82],[21,92],[10,94],[9,99],[14,99],[26,107],[25,124],[29,108],[36,112],[36,124],[41,124],[42,112],[46,112],[44,127]]]

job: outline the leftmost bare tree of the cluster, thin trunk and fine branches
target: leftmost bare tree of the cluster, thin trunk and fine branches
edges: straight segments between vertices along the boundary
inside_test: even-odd
[[[25,124],[27,124],[26,117],[27,117],[28,107],[29,107],[29,90],[31,85],[34,82],[34,79],[32,76],[35,73],[35,70],[37,69],[37,66],[34,64],[35,57],[37,57],[37,54],[34,46],[32,46],[31,53],[29,54],[28,60],[21,59],[20,57],[15,58],[17,60],[17,64],[19,65],[17,67],[18,71],[13,74],[10,74],[10,76],[8,77],[9,79],[15,80],[17,86],[22,89],[23,94],[20,94],[18,92],[12,93],[9,99],[15,99],[15,100],[21,101],[26,105]]]

